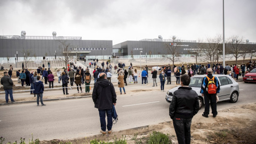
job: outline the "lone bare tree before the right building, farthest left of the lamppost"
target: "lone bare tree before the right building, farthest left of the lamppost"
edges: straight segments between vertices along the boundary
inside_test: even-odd
[[[181,41],[179,39],[175,40],[175,36],[171,39],[171,42],[166,42],[163,44],[167,53],[163,56],[172,61],[172,66],[174,65],[174,61],[176,61],[176,57],[180,54],[179,48],[181,45]]]

